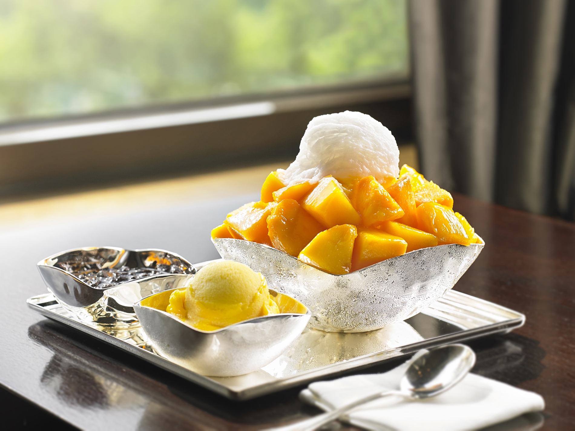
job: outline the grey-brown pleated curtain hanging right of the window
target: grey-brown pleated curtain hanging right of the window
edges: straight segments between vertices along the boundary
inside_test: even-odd
[[[425,176],[474,198],[573,218],[574,3],[409,1]]]

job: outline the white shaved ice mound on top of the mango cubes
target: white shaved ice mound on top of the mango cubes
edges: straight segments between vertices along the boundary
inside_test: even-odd
[[[338,179],[373,175],[379,182],[399,175],[399,149],[392,133],[361,112],[313,118],[301,138],[300,152],[286,170],[286,186],[332,175]]]

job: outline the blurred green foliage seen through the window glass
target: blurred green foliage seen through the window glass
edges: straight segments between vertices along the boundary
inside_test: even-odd
[[[0,0],[0,120],[409,72],[405,0]]]

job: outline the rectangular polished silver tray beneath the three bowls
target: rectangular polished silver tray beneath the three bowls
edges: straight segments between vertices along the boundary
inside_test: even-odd
[[[196,267],[201,268],[204,264],[197,264]],[[406,321],[363,333],[329,333],[307,328],[282,356],[266,367],[242,376],[210,377],[186,370],[160,356],[141,328],[114,331],[109,326],[99,327],[83,322],[64,309],[51,293],[31,297],[27,302],[45,317],[113,344],[217,394],[237,400],[259,397],[411,355],[421,348],[507,333],[525,322],[525,316],[517,311],[450,290],[439,301]]]

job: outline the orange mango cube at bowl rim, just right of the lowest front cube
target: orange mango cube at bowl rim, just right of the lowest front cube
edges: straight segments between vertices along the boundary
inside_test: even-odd
[[[351,259],[351,271],[405,254],[407,242],[398,236],[374,228],[358,228],[354,253]]]

